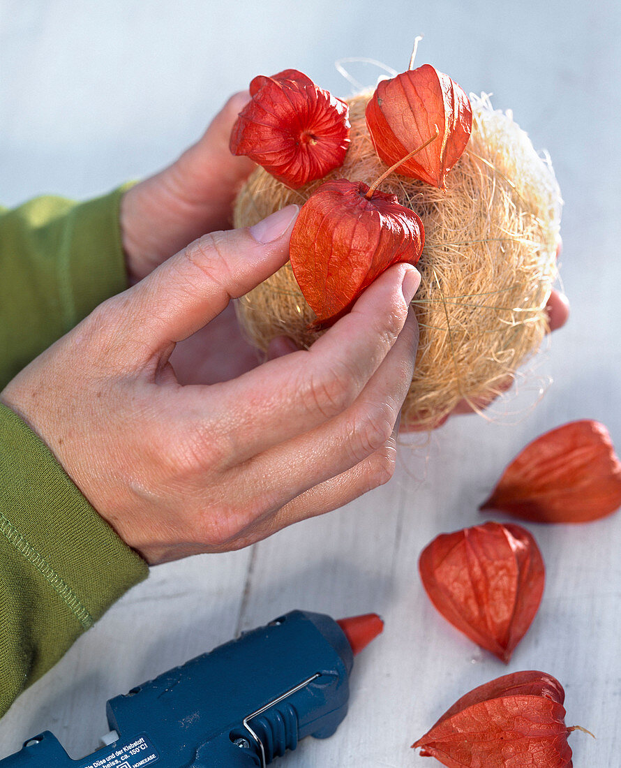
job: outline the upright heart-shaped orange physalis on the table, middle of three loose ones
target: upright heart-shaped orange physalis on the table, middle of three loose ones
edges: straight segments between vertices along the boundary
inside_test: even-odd
[[[442,534],[421,552],[418,569],[444,618],[508,662],[543,594],[545,568],[532,535],[494,522]]]

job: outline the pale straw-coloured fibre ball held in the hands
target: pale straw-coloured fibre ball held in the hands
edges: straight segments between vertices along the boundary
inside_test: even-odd
[[[369,96],[349,101],[352,143],[342,167],[301,190],[289,190],[258,168],[237,198],[235,226],[303,204],[329,178],[372,184],[385,164],[366,129]],[[471,103],[471,139],[446,190],[397,173],[380,187],[424,223],[422,281],[413,301],[421,338],[402,418],[430,429],[461,399],[476,406],[498,392],[537,350],[557,274],[561,200],[549,161],[510,113],[494,111],[486,97],[471,97]],[[243,296],[237,311],[259,349],[283,334],[302,347],[316,338],[309,330],[315,315],[289,263]]]

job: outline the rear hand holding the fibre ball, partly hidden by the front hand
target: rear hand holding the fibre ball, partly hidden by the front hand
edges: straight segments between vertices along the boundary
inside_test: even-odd
[[[248,91],[232,96],[197,144],[124,194],[121,233],[131,284],[191,240],[230,228],[233,200],[256,167],[229,149],[231,128],[248,99]],[[258,350],[239,331],[232,304],[178,344],[171,359],[182,384],[233,379],[260,361]]]

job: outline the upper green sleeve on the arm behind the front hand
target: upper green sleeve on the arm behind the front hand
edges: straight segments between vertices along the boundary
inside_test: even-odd
[[[125,189],[79,204],[38,197],[0,211],[0,389],[127,288],[119,225]]]

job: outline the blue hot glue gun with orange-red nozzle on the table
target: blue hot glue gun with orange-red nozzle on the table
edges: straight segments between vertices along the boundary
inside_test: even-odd
[[[292,611],[107,702],[105,746],[71,760],[49,731],[0,768],[265,768],[347,713],[354,654],[384,625]]]

